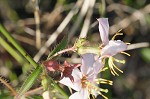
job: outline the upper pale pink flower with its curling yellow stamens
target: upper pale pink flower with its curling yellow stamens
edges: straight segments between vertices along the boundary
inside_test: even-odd
[[[123,52],[127,49],[127,44],[125,44],[123,41],[121,40],[110,40],[108,38],[108,33],[109,33],[109,23],[108,23],[108,18],[99,18],[97,19],[99,22],[99,32],[100,32],[100,37],[102,40],[102,46],[104,46],[101,49],[101,58],[100,59],[104,59],[104,58],[109,58],[108,60],[108,64],[111,70],[111,73],[113,75],[118,75],[118,73],[114,70],[114,68],[116,68],[117,70],[121,71],[119,68],[117,68],[113,61],[119,61],[120,63],[124,63],[124,60],[117,60],[115,58],[113,58],[112,56],[116,55],[117,53]],[[115,36],[117,35],[121,35],[121,33],[117,33]],[[115,37],[114,36],[114,37]],[[127,54],[124,52],[124,54]],[[127,54],[129,55],[129,54]]]

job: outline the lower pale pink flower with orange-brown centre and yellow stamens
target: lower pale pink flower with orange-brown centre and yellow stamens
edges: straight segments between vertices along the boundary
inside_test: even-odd
[[[69,97],[69,99],[88,99],[90,94],[96,95],[95,93],[98,93],[106,98],[100,92],[101,88],[96,86],[96,83],[100,82],[100,80],[96,78],[98,73],[95,73],[95,68],[93,68],[94,65],[97,65],[97,61],[94,60],[95,56],[95,54],[91,53],[82,55],[82,65],[80,67],[80,70],[78,68],[75,68],[72,71],[74,82],[72,82],[69,78],[63,78],[59,81],[60,83],[77,91],[73,93]],[[103,90],[103,92],[107,92],[107,90]]]

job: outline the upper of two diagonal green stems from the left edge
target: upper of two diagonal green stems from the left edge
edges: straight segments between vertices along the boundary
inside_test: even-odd
[[[18,42],[10,35],[10,33],[0,24],[0,32],[8,39],[8,41],[34,66],[38,64],[32,59],[32,57],[26,53],[26,51],[18,44]]]

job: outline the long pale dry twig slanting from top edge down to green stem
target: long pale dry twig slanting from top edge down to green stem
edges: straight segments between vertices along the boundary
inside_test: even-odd
[[[50,36],[50,38],[46,41],[44,46],[39,50],[39,52],[34,56],[34,60],[38,61],[41,56],[46,52],[47,48],[56,40],[58,35],[64,30],[64,28],[67,26],[67,24],[71,21],[74,14],[78,12],[78,8],[82,4],[81,0],[78,0],[76,5],[72,8],[72,10],[69,12],[69,14],[65,17],[63,22],[59,25],[57,30]]]

